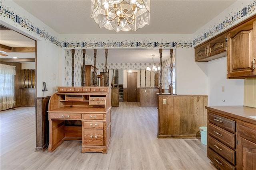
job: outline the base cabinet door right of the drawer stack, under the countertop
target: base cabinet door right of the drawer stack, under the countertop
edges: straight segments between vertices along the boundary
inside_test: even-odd
[[[256,169],[256,143],[250,142],[242,137],[238,137],[237,169]]]

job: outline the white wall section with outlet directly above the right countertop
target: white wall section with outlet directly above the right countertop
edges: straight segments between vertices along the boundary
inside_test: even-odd
[[[208,105],[210,106],[243,105],[244,80],[226,79],[226,63],[226,57],[208,62]]]

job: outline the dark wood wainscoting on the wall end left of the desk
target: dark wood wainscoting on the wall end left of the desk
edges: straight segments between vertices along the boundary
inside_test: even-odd
[[[36,98],[36,151],[44,151],[49,145],[48,103],[51,96]]]

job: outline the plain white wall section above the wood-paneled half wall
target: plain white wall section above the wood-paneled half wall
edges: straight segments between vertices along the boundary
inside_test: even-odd
[[[176,53],[176,94],[208,94],[207,62],[194,62],[194,48]]]

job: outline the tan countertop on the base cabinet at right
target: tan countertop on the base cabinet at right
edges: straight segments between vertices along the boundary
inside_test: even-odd
[[[256,125],[256,108],[247,106],[205,106],[206,109],[222,113]]]

